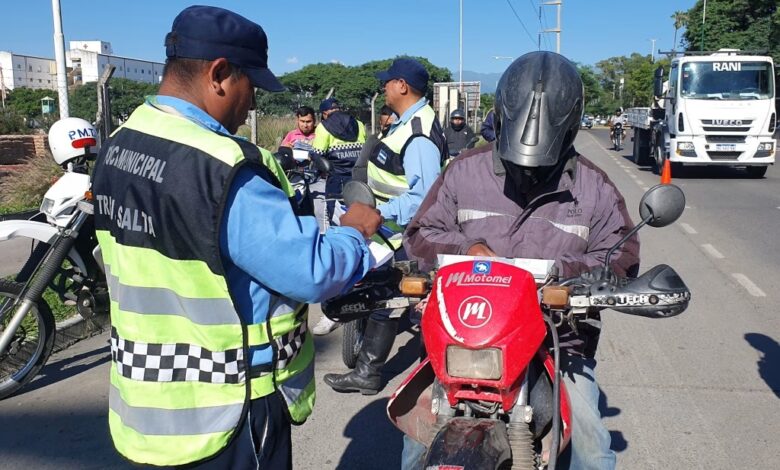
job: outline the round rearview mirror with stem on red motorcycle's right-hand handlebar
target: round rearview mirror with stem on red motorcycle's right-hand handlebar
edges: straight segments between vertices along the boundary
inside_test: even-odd
[[[636,224],[615,246],[609,249],[607,256],[604,258],[603,278],[609,278],[609,259],[612,257],[612,253],[638,232],[640,228],[645,225],[666,227],[679,219],[684,210],[685,194],[678,186],[658,184],[648,189],[639,201],[639,216],[642,218],[642,221]]]

